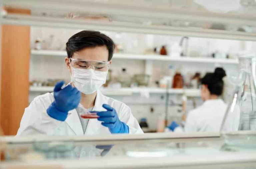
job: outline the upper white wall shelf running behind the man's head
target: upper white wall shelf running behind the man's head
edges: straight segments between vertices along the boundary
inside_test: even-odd
[[[66,53],[66,51],[56,51],[56,50],[31,50],[31,55],[67,56],[67,53]],[[139,54],[123,54],[123,53],[114,54],[113,59],[238,64],[237,59],[216,59],[216,58],[200,58],[200,57],[171,57],[171,56],[160,56],[160,55],[139,55]]]

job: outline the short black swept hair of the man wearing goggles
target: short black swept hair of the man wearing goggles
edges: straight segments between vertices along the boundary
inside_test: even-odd
[[[115,50],[114,41],[99,31],[83,30],[68,39],[68,42],[66,43],[66,51],[68,58],[71,58],[74,52],[81,49],[104,45],[108,49],[108,61],[110,61]]]

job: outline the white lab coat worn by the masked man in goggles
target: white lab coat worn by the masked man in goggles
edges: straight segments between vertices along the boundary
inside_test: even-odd
[[[109,129],[101,125],[101,121],[90,119],[85,134],[77,114],[76,109],[68,112],[68,117],[64,122],[51,118],[46,110],[54,101],[53,93],[46,93],[37,96],[30,105],[25,108],[25,112],[20,122],[17,135],[94,135],[111,134]],[[141,134],[138,121],[133,117],[131,109],[124,103],[104,96],[99,90],[95,100],[93,111],[106,111],[102,105],[109,104],[113,107],[119,119],[129,126],[129,134]]]

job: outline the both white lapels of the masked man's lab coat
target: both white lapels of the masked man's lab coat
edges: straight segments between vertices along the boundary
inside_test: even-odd
[[[93,111],[105,111],[105,109],[102,107],[103,104],[107,104],[106,96],[104,96],[98,90]],[[82,124],[80,122],[80,118],[78,116],[76,109],[73,109],[68,112],[66,123],[76,133],[76,135],[84,135]],[[93,126],[93,127],[90,127],[90,126]],[[102,127],[103,126],[101,125],[100,121],[98,121],[97,119],[90,119],[87,125],[86,133],[87,134],[97,133],[97,131]]]

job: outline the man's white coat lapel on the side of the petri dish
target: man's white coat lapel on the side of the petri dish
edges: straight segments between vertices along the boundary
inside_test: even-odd
[[[106,109],[102,107],[103,104],[108,104],[107,98],[98,90],[93,111],[106,111]],[[98,119],[90,119],[85,134],[102,133],[107,134],[110,133],[110,131],[107,127],[102,126],[101,121],[98,121]]]

